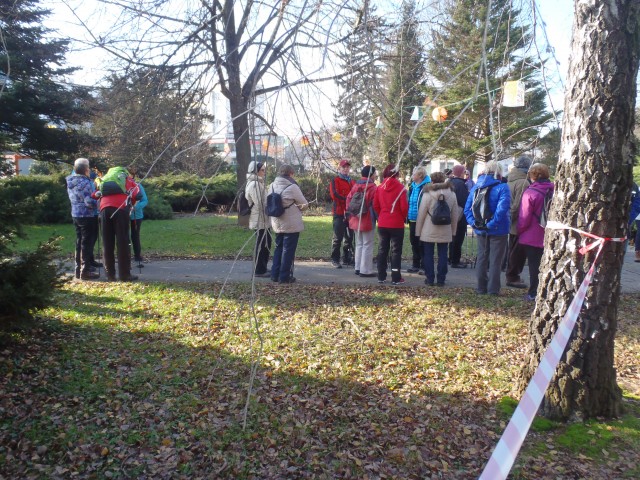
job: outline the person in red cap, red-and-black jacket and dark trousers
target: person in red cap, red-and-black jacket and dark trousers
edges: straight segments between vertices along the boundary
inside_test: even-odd
[[[351,163],[349,160],[340,161],[338,175],[329,184],[329,195],[333,200],[331,213],[333,214],[333,240],[331,242],[331,264],[335,268],[342,268],[340,263],[340,247],[342,246],[342,263],[353,264],[353,231],[349,228],[348,220],[345,218],[347,208],[347,196],[351,192],[351,187],[355,181],[351,180],[349,171]]]

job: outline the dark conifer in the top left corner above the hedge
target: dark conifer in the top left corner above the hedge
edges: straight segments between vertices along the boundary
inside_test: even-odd
[[[85,88],[61,83],[68,41],[42,26],[50,11],[39,0],[0,3],[0,148],[39,160],[69,157],[87,141],[76,128],[87,118]]]

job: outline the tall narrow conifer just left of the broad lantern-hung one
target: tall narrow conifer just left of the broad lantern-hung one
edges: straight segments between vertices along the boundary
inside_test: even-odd
[[[420,39],[413,0],[402,3],[396,48],[389,65],[389,90],[384,110],[383,153],[390,163],[402,158],[401,167],[415,165],[421,158],[411,139],[414,123],[409,119],[414,106],[424,101],[425,53]]]

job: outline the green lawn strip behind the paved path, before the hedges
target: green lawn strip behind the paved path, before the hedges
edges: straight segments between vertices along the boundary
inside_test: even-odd
[[[305,259],[328,260],[331,255],[333,235],[330,215],[305,216],[305,230],[300,236],[296,256]],[[62,254],[73,256],[75,230],[73,225],[31,225],[25,228],[26,239],[20,240],[19,248],[32,249],[52,235],[62,236]],[[237,225],[235,216],[186,215],[173,220],[144,221],[141,242],[144,256],[233,258],[248,241],[241,256],[249,258],[254,240],[253,231]],[[377,236],[376,236],[377,237]],[[475,239],[474,239],[475,240]],[[465,242],[472,244],[474,242]],[[377,238],[376,238],[377,244]],[[377,247],[376,247],[377,248]],[[470,256],[470,247],[463,246],[463,255]],[[404,257],[411,257],[409,229],[404,241]]]

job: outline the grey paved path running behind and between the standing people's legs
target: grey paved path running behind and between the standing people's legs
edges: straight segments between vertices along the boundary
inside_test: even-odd
[[[635,263],[634,252],[629,249],[622,267],[622,292],[640,292],[640,263]],[[407,286],[421,286],[424,276],[406,272],[403,265],[403,277]],[[101,272],[104,276],[104,271]],[[132,273],[139,275],[141,281],[149,282],[246,282],[251,280],[251,262],[241,260],[152,260],[144,264],[144,268],[132,268]],[[390,275],[390,273],[389,273]],[[324,285],[377,285],[376,278],[360,278],[354,274],[353,268],[336,269],[330,262],[296,261],[294,276],[301,283]],[[387,277],[390,280],[390,276]],[[529,272],[525,267],[522,274],[528,282]],[[270,283],[269,278],[256,278],[257,282]],[[475,288],[475,268],[449,269],[447,285],[455,287]],[[502,285],[505,285],[504,273]],[[524,293],[524,291],[523,291]]]

